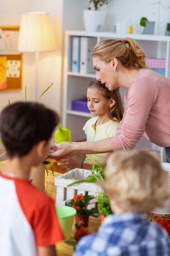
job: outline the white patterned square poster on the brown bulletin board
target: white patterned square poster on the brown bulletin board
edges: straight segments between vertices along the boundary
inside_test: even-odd
[[[7,77],[20,77],[21,61],[7,61]]]

